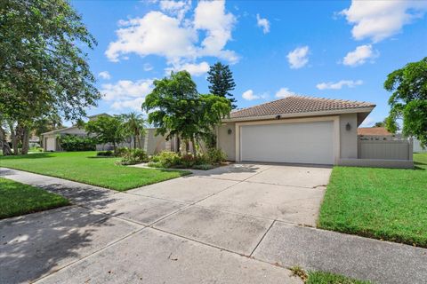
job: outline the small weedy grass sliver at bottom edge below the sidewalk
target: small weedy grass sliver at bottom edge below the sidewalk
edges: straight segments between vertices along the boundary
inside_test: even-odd
[[[369,281],[361,281],[348,278],[331,272],[309,271],[306,272],[300,266],[289,268],[293,276],[301,278],[306,284],[369,284]]]

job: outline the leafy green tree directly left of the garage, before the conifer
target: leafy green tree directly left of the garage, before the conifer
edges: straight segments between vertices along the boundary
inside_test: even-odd
[[[157,127],[157,133],[167,139],[177,135],[196,145],[197,139],[211,135],[209,131],[230,114],[230,100],[199,95],[187,71],[172,72],[154,86],[142,108],[149,112],[149,123]]]

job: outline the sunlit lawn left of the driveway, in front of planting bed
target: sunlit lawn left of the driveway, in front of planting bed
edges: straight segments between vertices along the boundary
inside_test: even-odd
[[[154,170],[116,165],[117,158],[96,158],[96,152],[35,153],[0,157],[0,166],[61,177],[88,185],[125,191],[189,174],[181,170]]]

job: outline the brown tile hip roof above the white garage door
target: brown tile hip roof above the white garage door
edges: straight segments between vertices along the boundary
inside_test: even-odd
[[[372,103],[344,99],[323,99],[305,96],[291,96],[286,97],[285,99],[273,100],[258,106],[238,109],[230,114],[230,119],[263,115],[302,114],[374,106],[375,105]]]

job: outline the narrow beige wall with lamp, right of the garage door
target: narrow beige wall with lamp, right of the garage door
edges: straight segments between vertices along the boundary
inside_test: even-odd
[[[350,130],[347,130],[347,123]],[[340,158],[358,158],[358,114],[340,115]]]

